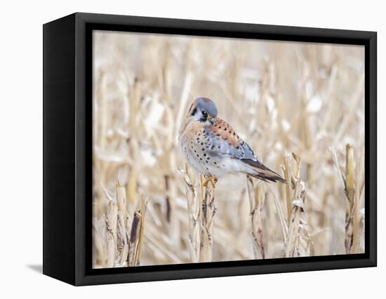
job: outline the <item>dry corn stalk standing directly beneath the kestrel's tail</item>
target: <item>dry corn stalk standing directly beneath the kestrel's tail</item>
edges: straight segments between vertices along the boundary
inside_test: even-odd
[[[254,187],[253,178],[250,175],[247,175],[246,183],[248,187],[249,206],[251,208],[253,255],[256,259],[265,258],[261,218],[262,206],[264,205],[262,187]]]

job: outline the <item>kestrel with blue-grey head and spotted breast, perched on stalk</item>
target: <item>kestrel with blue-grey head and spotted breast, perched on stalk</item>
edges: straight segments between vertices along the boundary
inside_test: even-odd
[[[287,182],[260,163],[251,147],[217,114],[212,100],[197,98],[189,108],[178,136],[188,164],[204,175],[206,182],[211,180],[214,186],[217,178],[229,173],[244,173],[265,182]]]

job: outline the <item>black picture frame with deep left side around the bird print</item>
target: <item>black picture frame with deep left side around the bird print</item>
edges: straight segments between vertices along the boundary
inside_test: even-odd
[[[365,46],[365,253],[91,269],[93,29]],[[376,32],[74,13],[44,31],[44,274],[76,286],[377,265]]]

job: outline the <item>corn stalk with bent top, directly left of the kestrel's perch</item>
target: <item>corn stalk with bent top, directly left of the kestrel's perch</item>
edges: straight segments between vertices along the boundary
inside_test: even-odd
[[[185,180],[186,197],[187,197],[187,213],[189,214],[189,241],[190,241],[190,261],[192,263],[199,262],[200,253],[200,199],[197,188],[195,188],[194,180],[187,171],[178,170],[177,172]]]

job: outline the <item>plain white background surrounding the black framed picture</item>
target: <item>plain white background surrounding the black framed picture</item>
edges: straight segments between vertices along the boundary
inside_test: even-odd
[[[386,125],[382,1],[3,1],[0,34],[0,296],[44,298],[364,298],[385,293],[385,231],[378,230],[378,268],[161,281],[74,288],[36,272],[42,251],[42,27],[74,11],[256,22],[378,31],[378,152]],[[173,4],[175,2],[175,4]],[[215,3],[217,2],[217,3]],[[385,155],[379,155],[378,227],[385,225]],[[383,217],[382,217],[383,216]],[[8,293],[5,297],[2,293]],[[93,297],[92,297],[93,296]],[[142,297],[142,298],[145,298]]]

